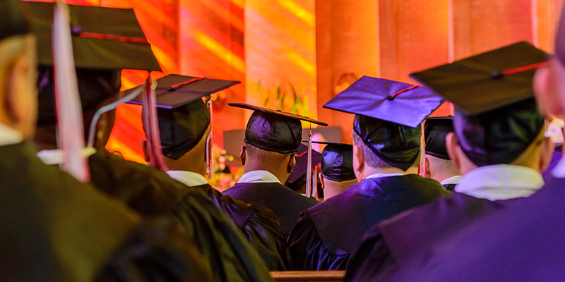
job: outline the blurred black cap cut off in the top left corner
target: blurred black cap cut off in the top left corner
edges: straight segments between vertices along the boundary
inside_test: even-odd
[[[30,27],[23,17],[20,2],[20,0],[0,1],[0,40],[30,32]]]

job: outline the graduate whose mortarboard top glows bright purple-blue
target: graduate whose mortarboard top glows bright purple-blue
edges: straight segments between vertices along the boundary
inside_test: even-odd
[[[417,106],[399,115],[409,103]],[[324,105],[355,113],[353,170],[359,183],[301,215],[288,238],[294,269],[345,269],[375,223],[448,195],[436,180],[417,175],[420,123],[440,104],[424,87],[364,76]]]

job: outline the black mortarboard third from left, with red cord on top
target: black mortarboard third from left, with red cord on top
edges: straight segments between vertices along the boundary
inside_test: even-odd
[[[179,159],[194,148],[208,129],[210,111],[202,97],[240,83],[185,75],[166,75],[155,82],[161,149],[171,159]],[[124,91],[124,95],[138,87]],[[141,99],[130,103],[141,104]]]

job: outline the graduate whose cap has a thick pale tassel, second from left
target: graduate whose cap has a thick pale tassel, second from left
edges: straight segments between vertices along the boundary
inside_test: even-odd
[[[42,11],[52,10],[52,4],[25,2],[30,13],[36,16],[45,16]],[[88,15],[93,18],[102,18],[102,15],[112,15],[113,18],[130,18],[131,14],[123,16],[124,11],[131,10],[71,6],[76,13],[71,15]],[[80,11],[80,13],[78,12]],[[88,23],[88,20],[76,20]],[[42,23],[37,20],[35,23]],[[123,30],[124,22],[121,21],[119,30]],[[129,23],[129,29],[136,30],[139,37],[143,32],[138,23],[133,20]],[[88,27],[93,32],[104,34],[107,29],[114,25],[96,25]],[[44,28],[42,25],[34,27]],[[87,28],[87,26],[83,27]],[[112,32],[119,32],[112,30]],[[47,27],[47,32],[50,28]],[[121,33],[117,33],[121,35]],[[131,33],[126,35],[131,36]],[[124,35],[124,36],[126,36]],[[133,34],[136,35],[136,34]],[[38,42],[38,48],[44,49],[50,46],[47,36]],[[81,40],[77,38],[76,40]],[[75,41],[76,41],[75,40]],[[82,39],[82,40],[88,40]],[[106,42],[112,39],[97,39],[97,42]],[[131,46],[131,45],[134,46]],[[83,46],[73,45],[74,48]],[[112,46],[112,45],[110,45]],[[83,106],[83,121],[90,125],[95,113],[110,102],[119,98],[120,73],[122,68],[145,68],[153,70],[158,68],[152,62],[155,60],[150,46],[141,54],[141,48],[136,43],[124,44],[121,49],[102,49],[102,54],[77,52],[76,73],[78,76],[78,91]],[[130,50],[131,49],[131,50]],[[125,51],[124,51],[125,50]],[[80,56],[82,54],[82,56]],[[109,56],[109,54],[119,57]],[[90,63],[94,60],[97,68],[92,68]],[[143,58],[143,59],[140,59]],[[140,66],[140,61],[141,66]],[[57,148],[57,134],[54,110],[54,91],[51,58],[44,59],[44,64],[39,68],[39,80],[37,82],[40,91],[38,128],[35,141],[42,149]],[[156,60],[155,60],[155,63]],[[88,165],[90,168],[91,183],[97,190],[105,192],[121,202],[126,203],[131,209],[141,216],[171,216],[174,215],[184,226],[184,231],[189,238],[195,240],[196,250],[201,252],[200,262],[209,273],[213,275],[214,281],[263,281],[270,280],[268,268],[258,257],[255,250],[247,243],[239,231],[234,228],[233,223],[227,216],[210,202],[208,195],[201,189],[187,189],[186,185],[170,178],[167,173],[158,171],[150,166],[125,161],[104,149],[105,142],[109,137],[114,123],[114,111],[104,114],[100,123],[97,123],[95,133],[95,148],[90,149]],[[42,157],[49,164],[57,164],[57,152],[42,152]]]

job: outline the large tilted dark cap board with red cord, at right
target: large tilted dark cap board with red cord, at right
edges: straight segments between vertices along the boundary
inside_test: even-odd
[[[472,115],[533,97],[535,69],[547,61],[544,51],[518,42],[410,77],[452,102],[460,113]]]

